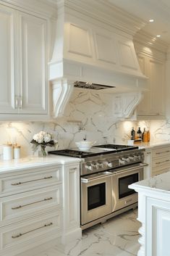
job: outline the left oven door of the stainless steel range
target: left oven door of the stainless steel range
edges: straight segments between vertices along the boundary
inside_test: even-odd
[[[111,213],[111,173],[81,178],[81,225]]]

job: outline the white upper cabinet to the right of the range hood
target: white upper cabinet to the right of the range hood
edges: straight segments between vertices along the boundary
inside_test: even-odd
[[[165,65],[164,62],[145,54],[139,54],[140,68],[148,77],[149,91],[145,91],[137,107],[137,117],[161,119],[165,115]]]

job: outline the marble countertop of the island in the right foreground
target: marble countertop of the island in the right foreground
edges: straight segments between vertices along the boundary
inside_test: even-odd
[[[170,170],[167,173],[154,176],[153,178],[148,178],[143,181],[138,181],[129,185],[130,189],[149,189],[153,191],[160,191],[163,193],[170,194]]]

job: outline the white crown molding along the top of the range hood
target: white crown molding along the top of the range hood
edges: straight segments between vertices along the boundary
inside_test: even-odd
[[[85,15],[90,19],[102,22],[112,28],[121,30],[134,36],[135,33],[146,24],[138,17],[129,15],[122,9],[113,6],[108,0],[56,0],[58,9],[62,6],[69,10],[76,11],[79,15]]]

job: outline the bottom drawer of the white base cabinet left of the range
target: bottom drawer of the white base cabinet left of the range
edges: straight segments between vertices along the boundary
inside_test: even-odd
[[[55,234],[61,234],[61,212],[52,212],[48,215],[41,215],[39,218],[32,218],[24,222],[15,223],[0,228],[0,249],[2,255],[14,249],[15,254],[24,250],[24,246],[35,246],[35,243],[41,244],[43,239],[47,241]],[[33,245],[34,244],[34,245]],[[7,254],[8,255],[8,254]],[[9,253],[10,255],[10,253]]]

